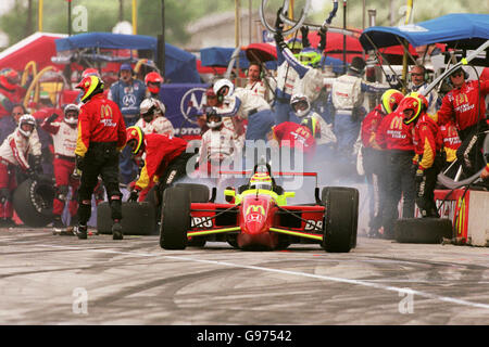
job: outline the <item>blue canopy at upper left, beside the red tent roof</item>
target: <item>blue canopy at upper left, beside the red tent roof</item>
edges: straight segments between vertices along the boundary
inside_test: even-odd
[[[145,35],[124,35],[112,33],[87,33],[55,40],[58,52],[77,49],[100,48],[116,50],[151,51],[158,60],[158,39]],[[93,55],[93,57],[97,57]],[[200,82],[196,57],[175,46],[165,43],[165,78],[173,82]]]

